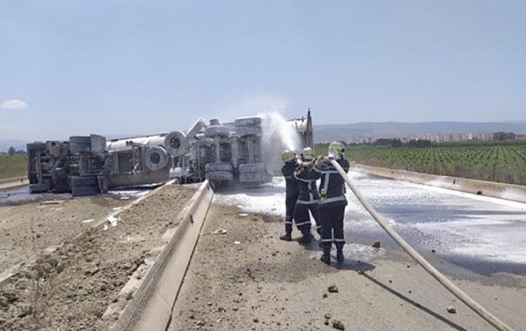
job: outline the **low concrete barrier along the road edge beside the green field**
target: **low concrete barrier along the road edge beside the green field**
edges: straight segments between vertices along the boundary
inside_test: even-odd
[[[469,178],[429,175],[413,171],[378,168],[371,165],[352,164],[351,170],[376,175],[380,177],[404,180],[417,184],[453,189],[472,194],[491,196],[498,199],[507,199],[526,203],[526,187],[499,182],[485,182],[484,180],[471,180]]]

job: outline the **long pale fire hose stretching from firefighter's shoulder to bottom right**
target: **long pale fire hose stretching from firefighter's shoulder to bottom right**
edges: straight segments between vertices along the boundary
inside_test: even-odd
[[[371,213],[371,216],[380,224],[381,227],[383,227],[383,230],[388,233],[393,239],[395,239],[395,242],[399,244],[402,249],[407,251],[407,253],[414,258],[415,261],[419,263],[420,266],[424,267],[424,269],[430,273],[433,277],[435,277],[438,282],[440,282],[444,287],[446,287],[451,293],[455,294],[455,296],[458,297],[458,299],[462,300],[467,306],[472,308],[472,310],[479,314],[484,320],[487,320],[491,325],[496,327],[498,330],[513,330],[510,326],[506,325],[503,321],[499,320],[496,316],[494,316],[492,313],[486,310],[483,306],[481,306],[477,301],[474,301],[470,296],[462,292],[461,289],[459,289],[456,285],[453,284],[446,276],[442,275],[440,271],[436,270],[434,266],[431,266],[429,262],[427,262],[420,254],[418,254],[417,251],[415,251],[412,246],[407,244],[398,233],[393,230],[390,225],[385,221],[383,216],[381,216],[374,208],[373,206],[367,201],[363,195],[361,195],[361,192],[357,189],[356,186],[351,182],[349,176],[347,176],[347,173],[342,169],[340,164],[338,164],[335,160],[331,159],[330,163],[336,168],[338,173],[342,175],[343,179],[349,185],[349,188],[352,190],[354,195],[358,198],[358,200],[361,202],[361,204],[364,205],[367,211]]]

